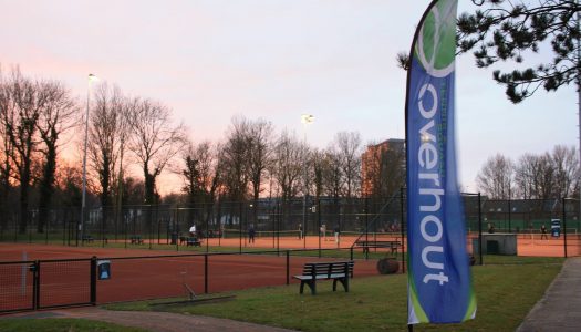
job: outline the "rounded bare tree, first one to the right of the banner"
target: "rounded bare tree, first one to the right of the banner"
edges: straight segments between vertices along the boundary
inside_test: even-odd
[[[485,163],[476,177],[476,183],[478,188],[489,198],[509,199],[513,173],[512,162],[501,154],[497,154]]]

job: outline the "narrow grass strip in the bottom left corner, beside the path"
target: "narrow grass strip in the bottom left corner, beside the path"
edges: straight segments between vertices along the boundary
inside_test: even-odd
[[[141,332],[143,329],[126,328],[85,319],[0,319],[0,331],[11,332]]]

